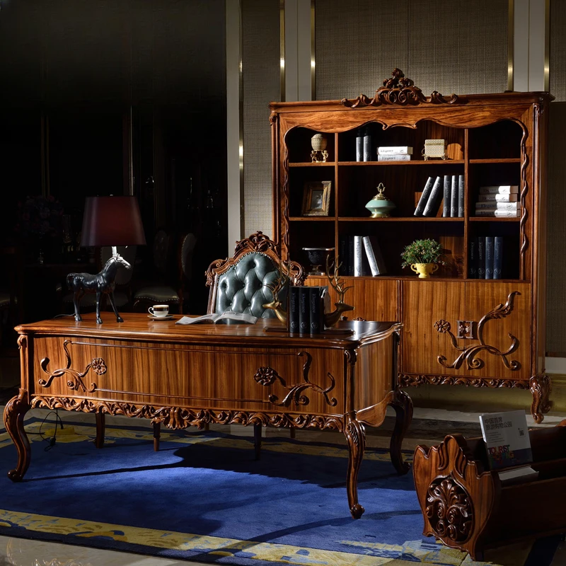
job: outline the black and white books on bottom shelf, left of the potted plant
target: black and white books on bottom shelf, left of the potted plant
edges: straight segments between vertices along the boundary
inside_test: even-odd
[[[376,236],[340,236],[338,258],[344,275],[364,277],[387,272]]]

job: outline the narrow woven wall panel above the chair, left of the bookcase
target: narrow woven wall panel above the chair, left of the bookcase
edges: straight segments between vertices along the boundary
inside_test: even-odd
[[[272,236],[269,103],[280,100],[279,0],[242,1],[244,234]]]

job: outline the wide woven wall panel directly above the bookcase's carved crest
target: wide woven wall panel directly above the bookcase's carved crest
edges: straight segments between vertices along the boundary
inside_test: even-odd
[[[394,67],[429,95],[507,88],[507,0],[316,0],[316,98],[371,96]]]

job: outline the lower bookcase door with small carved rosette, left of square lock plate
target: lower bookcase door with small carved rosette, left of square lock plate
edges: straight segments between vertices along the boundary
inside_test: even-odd
[[[465,320],[465,289],[463,282],[403,281],[402,374],[466,375],[463,365],[446,368],[438,361],[456,352],[445,330],[449,324],[456,334],[456,320]]]

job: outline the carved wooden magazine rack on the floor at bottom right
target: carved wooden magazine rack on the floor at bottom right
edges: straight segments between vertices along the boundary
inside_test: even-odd
[[[538,477],[509,485],[501,469],[489,470],[481,437],[450,434],[437,446],[417,446],[412,470],[423,534],[483,560],[486,548],[565,533],[566,420],[529,437]]]

